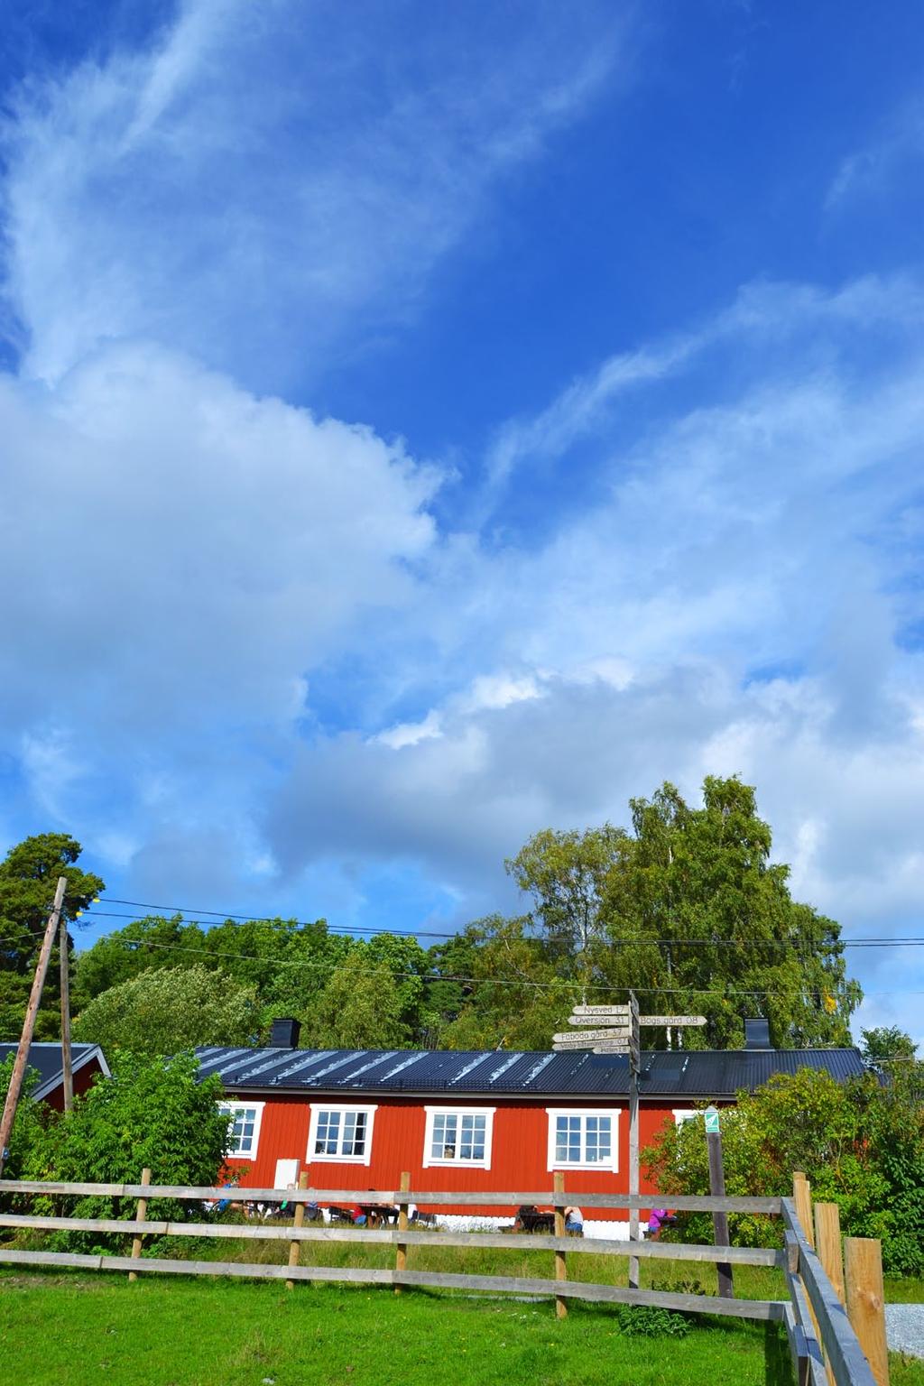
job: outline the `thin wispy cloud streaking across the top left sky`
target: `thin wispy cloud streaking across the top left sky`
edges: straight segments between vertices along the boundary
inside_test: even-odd
[[[585,109],[622,28],[597,4],[186,0],[151,50],[30,83],[6,126],[25,369],[143,337],[281,388],[367,349]]]

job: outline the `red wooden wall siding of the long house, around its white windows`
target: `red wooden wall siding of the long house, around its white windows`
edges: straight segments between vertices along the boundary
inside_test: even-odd
[[[229,1100],[245,1102],[244,1094],[234,1092]],[[625,1193],[629,1188],[629,1110],[626,1103],[582,1102],[489,1102],[485,1098],[460,1102],[450,1096],[420,1099],[364,1098],[359,1094],[339,1098],[310,1098],[302,1095],[254,1096],[254,1102],[265,1102],[260,1135],[255,1159],[230,1159],[229,1168],[241,1171],[242,1188],[272,1188],[276,1175],[276,1161],[291,1159],[299,1161],[301,1170],[308,1170],[316,1188],[342,1189],[396,1189],[405,1170],[410,1173],[411,1189],[452,1192],[492,1191],[537,1192],[551,1191],[553,1174],[547,1168],[549,1116],[546,1107],[561,1110],[612,1110],[618,1112],[619,1168],[612,1170],[565,1170],[565,1191],[583,1193]],[[352,1161],[314,1160],[309,1161],[308,1131],[312,1102],[337,1107],[339,1103],[377,1105],[373,1127],[373,1150],[370,1164]],[[465,1168],[465,1166],[431,1166],[424,1168],[425,1106],[447,1106],[454,1110],[465,1107],[495,1106],[492,1141],[492,1161],[489,1170]],[[654,1138],[665,1120],[673,1120],[670,1106],[643,1105],[640,1107],[639,1135],[644,1148]],[[643,1177],[641,1192],[654,1192],[654,1185]],[[427,1210],[427,1204],[421,1204]],[[432,1211],[465,1213],[481,1216],[503,1216],[513,1213],[492,1207],[442,1207]],[[621,1218],[625,1214],[610,1209],[585,1210],[586,1217],[598,1220]]]

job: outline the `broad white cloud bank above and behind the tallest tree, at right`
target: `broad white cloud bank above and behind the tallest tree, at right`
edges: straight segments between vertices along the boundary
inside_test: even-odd
[[[921,657],[902,636],[920,615],[920,306],[913,281],[765,286],[673,358],[695,405],[679,391],[629,442],[605,410],[585,432],[580,407],[562,485],[590,438],[593,505],[543,543],[434,550],[410,624],[432,642],[421,686],[427,649],[438,687],[452,671],[417,723],[439,735],[302,746],[267,819],[284,872],[402,858],[477,912],[507,901],[501,861],[536,829],[626,822],[662,779],[695,798],[740,772],[797,898],[848,933],[906,929],[924,900]],[[540,450],[526,420],[531,437]],[[532,463],[524,444],[521,485]],[[851,958],[873,990],[882,962]]]

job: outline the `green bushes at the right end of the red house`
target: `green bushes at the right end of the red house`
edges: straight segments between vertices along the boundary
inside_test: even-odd
[[[756,1092],[738,1092],[722,1113],[722,1153],[729,1195],[791,1195],[792,1171],[803,1170],[816,1199],[839,1206],[848,1236],[882,1239],[892,1274],[924,1270],[924,1066],[896,1087],[869,1076],[839,1084],[801,1069],[777,1076]],[[666,1121],[643,1164],[665,1199],[708,1193],[704,1123]],[[767,1246],[779,1220],[731,1217],[734,1239]],[[711,1240],[711,1221],[682,1216],[684,1240]]]

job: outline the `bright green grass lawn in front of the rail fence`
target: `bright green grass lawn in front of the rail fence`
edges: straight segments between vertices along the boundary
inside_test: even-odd
[[[17,1386],[792,1386],[777,1324],[634,1337],[610,1306],[76,1272],[0,1275],[0,1362]],[[892,1386],[924,1362],[894,1357]]]

